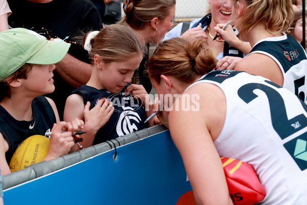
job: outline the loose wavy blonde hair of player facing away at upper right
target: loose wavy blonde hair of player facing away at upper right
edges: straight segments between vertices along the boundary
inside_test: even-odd
[[[255,25],[265,25],[270,34],[290,32],[294,17],[291,0],[233,0],[247,4],[246,10],[237,17],[239,37],[246,35]]]

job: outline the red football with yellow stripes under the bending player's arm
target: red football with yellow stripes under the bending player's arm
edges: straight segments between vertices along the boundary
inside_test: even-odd
[[[221,160],[229,196],[234,204],[255,204],[265,198],[266,190],[249,163],[229,157],[221,157]]]

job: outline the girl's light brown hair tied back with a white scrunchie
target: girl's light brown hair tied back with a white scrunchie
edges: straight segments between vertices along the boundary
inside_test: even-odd
[[[83,47],[89,33],[83,37]],[[144,53],[144,48],[139,43],[135,32],[128,26],[119,24],[103,28],[91,39],[90,44],[92,49],[89,54],[92,62],[94,62],[96,54],[101,57],[104,63],[108,64],[114,61],[121,62]]]

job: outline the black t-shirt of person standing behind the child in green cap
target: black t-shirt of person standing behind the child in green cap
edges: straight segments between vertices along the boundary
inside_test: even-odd
[[[99,12],[89,0],[53,0],[49,3],[33,3],[26,0],[8,0],[12,14],[8,17],[12,28],[33,30],[51,40],[71,43],[69,53],[86,63],[89,56],[73,37],[82,35],[80,31],[102,29]],[[75,72],[78,72],[77,70]],[[55,91],[47,96],[55,101],[60,118],[65,101],[74,90],[56,72]]]

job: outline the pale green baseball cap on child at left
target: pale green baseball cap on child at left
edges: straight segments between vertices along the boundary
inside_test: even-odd
[[[0,32],[0,79],[17,71],[24,64],[56,64],[67,54],[70,44],[53,42],[45,36],[14,28]]]

